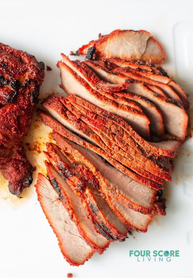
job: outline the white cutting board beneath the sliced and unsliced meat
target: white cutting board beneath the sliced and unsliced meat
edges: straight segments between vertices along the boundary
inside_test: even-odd
[[[193,103],[192,1],[2,1],[0,41],[33,54],[52,68],[45,71],[41,99],[52,92],[63,94],[56,63],[60,52],[69,54],[99,33],[115,29],[144,29],[162,45],[163,68],[186,90]],[[192,21],[192,22],[191,22]],[[192,104],[190,120],[192,120]],[[25,138],[27,156],[45,174],[45,149],[51,130],[34,117]],[[94,254],[80,267],[62,257],[57,239],[36,198],[34,183],[18,199],[0,176],[0,277],[193,277],[192,138],[182,145],[174,160],[172,184],[165,184],[167,215],[155,215],[146,234],[133,232],[125,242],[114,242],[103,255]],[[130,257],[130,250],[179,250],[179,257],[163,262],[154,257]]]

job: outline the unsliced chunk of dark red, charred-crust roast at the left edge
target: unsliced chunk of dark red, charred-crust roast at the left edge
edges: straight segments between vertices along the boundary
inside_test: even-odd
[[[0,171],[9,191],[18,197],[32,182],[33,167],[26,158],[23,137],[44,78],[44,63],[0,43]]]

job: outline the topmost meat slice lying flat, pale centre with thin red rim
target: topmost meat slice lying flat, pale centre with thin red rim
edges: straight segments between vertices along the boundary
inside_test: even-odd
[[[88,59],[118,57],[127,61],[144,59],[152,63],[165,61],[162,46],[150,33],[140,30],[115,30],[109,35],[79,48],[77,53],[87,54]]]

